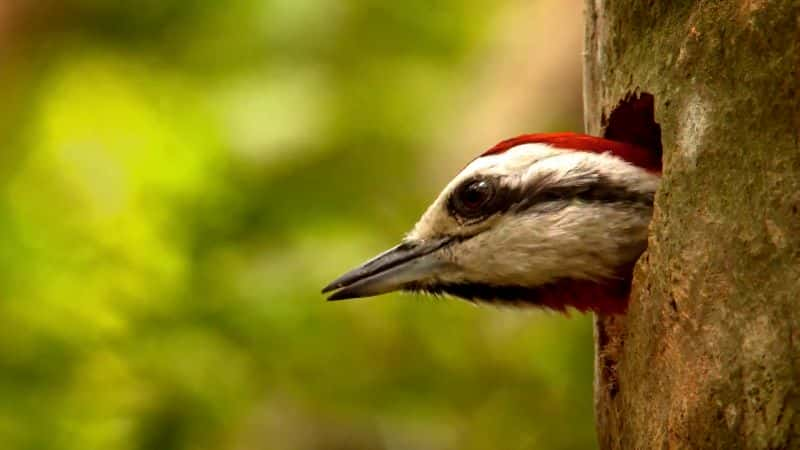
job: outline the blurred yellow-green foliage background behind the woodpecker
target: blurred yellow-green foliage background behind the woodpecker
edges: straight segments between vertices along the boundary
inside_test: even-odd
[[[593,448],[588,317],[319,294],[581,130],[581,3],[0,2],[0,448]]]

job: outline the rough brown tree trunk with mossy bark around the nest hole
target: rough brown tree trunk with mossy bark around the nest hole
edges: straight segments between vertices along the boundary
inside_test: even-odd
[[[601,448],[800,448],[800,2],[586,21],[587,131],[647,92],[664,149],[629,311],[596,321]]]

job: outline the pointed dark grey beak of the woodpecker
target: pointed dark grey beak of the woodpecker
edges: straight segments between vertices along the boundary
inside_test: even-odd
[[[333,280],[322,293],[336,291],[328,297],[332,301],[372,297],[403,289],[429,277],[444,265],[434,252],[451,240],[404,242]]]

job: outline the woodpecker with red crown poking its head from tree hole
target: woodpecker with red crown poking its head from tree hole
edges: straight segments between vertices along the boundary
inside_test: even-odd
[[[633,144],[578,133],[507,139],[469,163],[399,245],[322,292],[622,313],[660,175],[660,157]]]

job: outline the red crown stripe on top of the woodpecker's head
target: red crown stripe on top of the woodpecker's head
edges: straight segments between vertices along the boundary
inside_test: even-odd
[[[494,147],[483,152],[481,156],[497,155],[523,144],[547,144],[565,150],[611,153],[634,166],[661,173],[661,157],[657,152],[625,142],[572,132],[523,134],[499,142]]]

